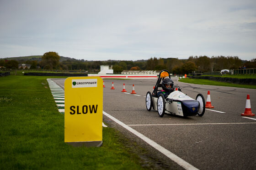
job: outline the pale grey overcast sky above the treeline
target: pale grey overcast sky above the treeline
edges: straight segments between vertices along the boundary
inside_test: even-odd
[[[0,0],[0,58],[256,58],[256,0]]]

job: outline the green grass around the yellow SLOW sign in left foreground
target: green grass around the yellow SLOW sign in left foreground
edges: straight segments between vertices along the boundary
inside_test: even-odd
[[[149,169],[126,145],[129,140],[109,127],[103,128],[99,148],[65,144],[64,115],[58,112],[47,78],[0,77],[1,170]]]

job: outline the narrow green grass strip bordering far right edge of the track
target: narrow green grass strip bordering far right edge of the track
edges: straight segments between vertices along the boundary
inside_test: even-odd
[[[226,83],[226,82],[206,80],[206,79],[186,78],[186,79],[180,79],[179,81],[184,82],[184,83],[198,84],[198,85],[220,85],[220,86],[256,89],[256,85],[238,85],[238,84],[233,84],[233,83]]]

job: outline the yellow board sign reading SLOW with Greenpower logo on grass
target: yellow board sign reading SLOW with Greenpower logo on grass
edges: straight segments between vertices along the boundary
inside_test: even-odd
[[[102,141],[103,80],[69,77],[65,80],[65,142]]]

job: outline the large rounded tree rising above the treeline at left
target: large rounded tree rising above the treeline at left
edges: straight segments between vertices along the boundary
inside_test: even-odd
[[[41,65],[43,67],[48,65],[47,69],[57,69],[57,67],[59,65],[59,59],[60,59],[60,56],[58,55],[58,53],[50,51],[50,52],[43,54]],[[44,69],[46,69],[46,68],[44,68]]]

